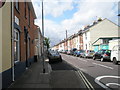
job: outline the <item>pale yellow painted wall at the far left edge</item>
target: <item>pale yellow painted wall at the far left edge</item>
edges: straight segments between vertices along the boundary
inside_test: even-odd
[[[0,43],[2,43],[2,47],[0,45],[0,66],[2,64],[2,70],[0,72],[6,71],[11,68],[11,3],[6,2],[5,5],[0,8],[0,36],[2,36],[2,40],[0,39]]]

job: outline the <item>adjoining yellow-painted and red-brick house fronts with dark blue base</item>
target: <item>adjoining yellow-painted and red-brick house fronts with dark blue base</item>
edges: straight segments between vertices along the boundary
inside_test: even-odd
[[[32,2],[6,2],[0,8],[2,88],[7,88],[34,62],[35,19]]]

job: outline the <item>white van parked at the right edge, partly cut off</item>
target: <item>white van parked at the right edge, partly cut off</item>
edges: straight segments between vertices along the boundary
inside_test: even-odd
[[[120,45],[116,45],[112,48],[111,61],[113,61],[114,64],[120,62]]]

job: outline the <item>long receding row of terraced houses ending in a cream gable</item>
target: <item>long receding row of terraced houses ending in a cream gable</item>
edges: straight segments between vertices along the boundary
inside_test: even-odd
[[[73,34],[66,41],[63,41],[64,47],[68,47],[68,50],[77,48],[78,50],[94,50],[110,49],[109,41],[117,40],[120,38],[119,26],[108,20],[107,18],[94,21],[91,25],[85,26],[83,30],[80,30],[76,34]],[[59,45],[59,44],[58,44]],[[58,48],[59,49],[59,48]]]

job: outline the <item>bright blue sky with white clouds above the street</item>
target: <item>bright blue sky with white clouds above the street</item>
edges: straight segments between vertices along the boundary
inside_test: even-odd
[[[43,0],[44,33],[51,46],[77,33],[98,18],[107,18],[118,23],[119,0]],[[41,0],[32,0],[37,19],[35,24],[42,29]],[[42,31],[42,30],[41,30]]]

